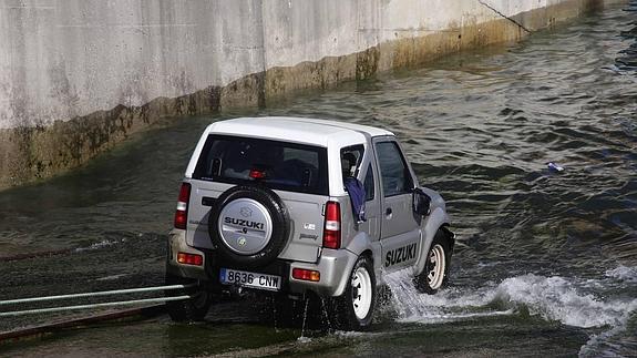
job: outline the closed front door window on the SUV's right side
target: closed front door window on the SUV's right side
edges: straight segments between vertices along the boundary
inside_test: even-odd
[[[393,196],[411,192],[413,183],[409,167],[395,142],[376,144],[382,188],[384,196]]]

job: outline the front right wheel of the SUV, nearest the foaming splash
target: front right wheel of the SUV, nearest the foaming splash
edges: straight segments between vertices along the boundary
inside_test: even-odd
[[[449,267],[451,264],[451,247],[445,233],[439,229],[431,247],[427,253],[424,269],[414,277],[415,288],[421,293],[434,295],[446,285],[449,279]]]

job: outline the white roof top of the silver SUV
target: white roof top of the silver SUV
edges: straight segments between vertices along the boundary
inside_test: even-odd
[[[258,116],[219,121],[208,126],[209,133],[254,136],[320,146],[364,142],[364,136],[393,135],[369,125],[309,117]]]

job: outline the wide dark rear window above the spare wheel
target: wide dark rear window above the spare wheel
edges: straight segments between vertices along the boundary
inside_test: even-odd
[[[327,150],[210,134],[193,178],[229,184],[258,182],[273,190],[328,195]]]

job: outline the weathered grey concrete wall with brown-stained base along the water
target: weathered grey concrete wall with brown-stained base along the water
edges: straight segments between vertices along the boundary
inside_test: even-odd
[[[602,0],[0,0],[0,188],[164,116],[520,39]]]

